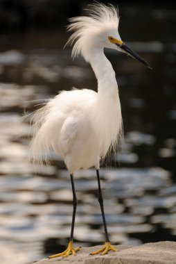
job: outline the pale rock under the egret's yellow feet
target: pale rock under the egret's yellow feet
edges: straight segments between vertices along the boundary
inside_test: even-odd
[[[102,256],[89,256],[96,247],[84,247],[76,256],[52,258],[38,261],[35,264],[174,264],[176,263],[176,242],[165,241],[147,243],[140,246],[118,245],[118,251],[109,251]]]

